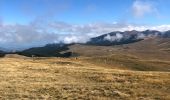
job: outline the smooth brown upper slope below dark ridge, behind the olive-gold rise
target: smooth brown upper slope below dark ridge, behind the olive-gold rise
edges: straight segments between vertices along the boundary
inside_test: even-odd
[[[109,56],[113,54],[134,55],[142,59],[170,59],[170,38],[147,38],[135,43],[97,46],[71,45],[69,51],[86,57]]]

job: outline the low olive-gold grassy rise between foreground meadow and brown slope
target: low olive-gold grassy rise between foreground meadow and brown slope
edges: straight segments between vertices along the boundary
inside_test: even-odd
[[[164,71],[170,72],[170,61],[145,60],[134,55],[114,54],[111,56],[86,57],[83,61],[111,69],[134,71]]]

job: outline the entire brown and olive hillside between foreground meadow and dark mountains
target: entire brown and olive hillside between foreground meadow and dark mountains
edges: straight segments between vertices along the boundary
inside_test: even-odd
[[[72,45],[69,51],[84,61],[102,67],[138,71],[170,71],[170,38],[147,38],[139,42],[115,45]]]

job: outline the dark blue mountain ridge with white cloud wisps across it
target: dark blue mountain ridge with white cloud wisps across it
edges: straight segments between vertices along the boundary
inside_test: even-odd
[[[125,32],[111,32],[108,34],[104,34],[98,37],[91,38],[90,41],[87,42],[89,45],[101,45],[101,46],[109,46],[109,45],[121,45],[121,44],[129,44],[141,41],[145,38],[153,38],[153,37],[170,37],[170,32],[159,32],[155,30],[146,30],[146,31],[125,31]]]

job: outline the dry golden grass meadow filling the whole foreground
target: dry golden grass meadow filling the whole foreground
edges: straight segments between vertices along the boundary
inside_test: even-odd
[[[79,58],[0,62],[0,99],[170,100],[169,72],[110,69]]]

